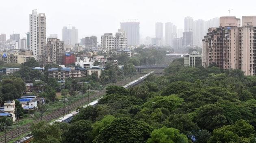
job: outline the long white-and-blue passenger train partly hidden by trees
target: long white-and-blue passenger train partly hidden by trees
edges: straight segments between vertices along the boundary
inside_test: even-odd
[[[143,80],[145,80],[146,77],[148,77],[150,74],[153,74],[153,73],[154,73],[154,71],[151,71],[150,73],[145,74],[144,76],[141,76],[140,78],[137,78],[137,80],[134,80],[134,81],[132,81],[132,82],[126,84],[126,85],[123,86],[123,87],[124,87],[124,88],[130,88],[130,87],[132,87],[132,86],[135,86],[135,85],[137,85],[137,84],[143,82]],[[87,107],[87,106],[95,106],[101,98],[102,98],[102,97],[100,97],[99,99],[97,99],[97,100],[95,100],[95,101],[92,101],[91,103],[89,103],[89,104],[83,106],[82,108],[85,108],[85,107]],[[52,124],[55,123],[55,122],[65,122],[65,123],[69,123],[69,122],[71,122],[71,120],[73,119],[73,117],[74,117],[76,114],[78,114],[78,113],[79,113],[79,110],[72,111],[71,113],[66,114],[65,116],[63,116],[63,117],[61,117],[61,118],[59,118],[59,119],[57,119],[57,120],[51,122],[50,124],[52,125]],[[33,137],[30,136],[30,137],[27,137],[26,140],[20,141],[20,142],[17,142],[17,143],[30,143],[30,141],[31,141],[32,139],[33,139]],[[29,142],[27,142],[27,141],[29,141]]]

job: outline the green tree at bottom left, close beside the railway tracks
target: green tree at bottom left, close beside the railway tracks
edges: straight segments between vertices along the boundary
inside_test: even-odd
[[[33,143],[61,143],[61,133],[59,124],[50,125],[45,121],[32,124],[31,132]]]

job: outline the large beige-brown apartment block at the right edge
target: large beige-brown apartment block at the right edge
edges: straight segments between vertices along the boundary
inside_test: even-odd
[[[220,17],[219,21],[219,27],[209,28],[204,36],[202,65],[256,75],[256,16],[243,16],[242,26],[236,17]]]

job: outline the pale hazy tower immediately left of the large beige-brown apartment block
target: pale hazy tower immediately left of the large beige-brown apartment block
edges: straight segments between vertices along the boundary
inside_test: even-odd
[[[202,39],[205,35],[204,20],[198,19],[194,22],[193,27],[193,45],[201,46]]]

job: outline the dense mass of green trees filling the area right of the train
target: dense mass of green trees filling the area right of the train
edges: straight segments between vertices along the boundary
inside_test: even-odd
[[[244,76],[241,70],[224,71],[214,65],[184,67],[183,60],[176,59],[164,76],[152,75],[128,90],[118,86],[106,90],[98,105],[82,109],[56,140],[256,142],[256,76]],[[78,137],[73,135],[75,130]]]

